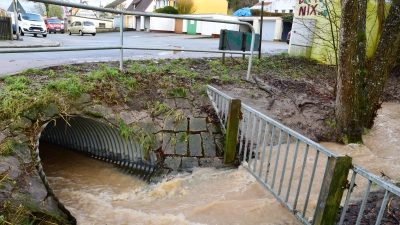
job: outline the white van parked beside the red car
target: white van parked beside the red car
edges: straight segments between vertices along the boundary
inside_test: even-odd
[[[47,37],[46,24],[40,14],[36,13],[20,13],[18,15],[18,26],[21,35],[33,34],[37,36],[41,34],[43,37]]]

